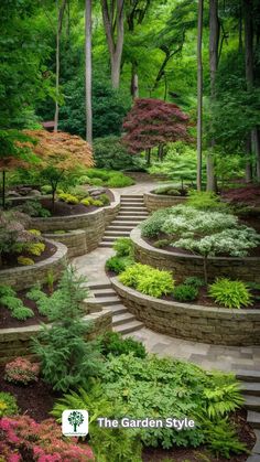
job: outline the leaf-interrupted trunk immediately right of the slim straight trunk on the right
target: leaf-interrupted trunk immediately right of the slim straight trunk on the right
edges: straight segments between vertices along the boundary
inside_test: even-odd
[[[210,68],[210,103],[212,105],[214,104],[214,100],[216,98],[218,43],[219,43],[218,0],[209,0],[209,68]],[[207,191],[217,190],[214,147],[215,147],[215,139],[213,138],[210,140],[210,149],[207,154]]]

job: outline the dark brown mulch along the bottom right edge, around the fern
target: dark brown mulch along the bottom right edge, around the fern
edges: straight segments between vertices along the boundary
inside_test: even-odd
[[[247,423],[247,411],[239,410],[234,413],[231,420],[238,428],[239,440],[243,442],[248,450],[254,445],[256,434],[252,428]],[[164,449],[143,449],[142,460],[143,462],[245,462],[248,459],[248,454],[231,455],[231,459],[214,458],[214,455],[204,447],[197,449],[189,448],[172,448],[170,450]]]

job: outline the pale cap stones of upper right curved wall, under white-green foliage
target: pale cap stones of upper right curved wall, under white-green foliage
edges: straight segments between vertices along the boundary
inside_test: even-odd
[[[178,251],[169,251],[169,250],[163,250],[163,249],[158,249],[153,246],[151,246],[150,244],[148,244],[141,236],[141,229],[139,227],[136,227],[132,229],[132,232],[130,233],[130,238],[131,240],[138,246],[138,247],[142,247],[147,250],[149,250],[151,254],[158,255],[160,257],[160,255],[164,255],[171,258],[172,257],[181,257],[183,259],[196,259],[196,260],[203,260],[203,257],[201,255],[192,255],[192,254],[182,254]],[[214,261],[241,261],[241,265],[243,265],[247,261],[260,261],[259,257],[208,257],[208,261],[214,260]]]

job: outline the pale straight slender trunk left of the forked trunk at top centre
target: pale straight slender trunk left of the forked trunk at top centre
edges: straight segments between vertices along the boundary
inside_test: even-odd
[[[85,10],[85,89],[86,89],[86,140],[93,143],[91,101],[91,0],[86,0]]]

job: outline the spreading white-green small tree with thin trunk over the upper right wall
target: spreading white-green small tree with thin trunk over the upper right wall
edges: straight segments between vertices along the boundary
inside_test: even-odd
[[[141,224],[142,236],[160,236],[167,239],[170,248],[203,256],[207,283],[208,257],[246,257],[260,244],[260,235],[253,228],[240,224],[231,213],[215,211],[216,206],[218,201],[209,197],[205,203],[204,196],[202,209],[201,206],[176,205],[158,211]]]

